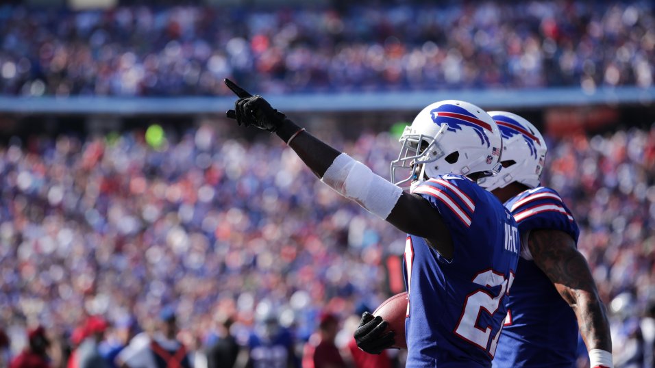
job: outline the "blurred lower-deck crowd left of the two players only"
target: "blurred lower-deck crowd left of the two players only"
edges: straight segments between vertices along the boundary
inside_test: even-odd
[[[0,148],[0,326],[13,352],[25,338],[11,326],[38,322],[71,341],[73,327],[103,315],[152,332],[169,305],[191,351],[226,319],[240,345],[271,318],[304,342],[321,313],[343,321],[386,298],[383,257],[401,254],[404,236],[321,185],[286,146],[208,126],[156,147],[148,136]],[[386,172],[385,137],[345,148]]]

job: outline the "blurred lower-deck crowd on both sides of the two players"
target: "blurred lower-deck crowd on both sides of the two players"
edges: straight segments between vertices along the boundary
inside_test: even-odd
[[[388,176],[398,150],[390,134],[330,134]],[[0,147],[5,354],[25,345],[26,326],[79,343],[74,330],[88,316],[152,331],[166,308],[191,351],[221,337],[228,318],[240,345],[271,318],[302,343],[321,313],[349,320],[388,296],[384,259],[403,252],[404,234],[321,184],[284,144],[232,140],[208,125],[148,136]],[[655,126],[548,144],[545,183],[581,226],[617,367],[628,367],[649,355],[641,346],[655,334]],[[338,345],[352,329],[343,324]]]

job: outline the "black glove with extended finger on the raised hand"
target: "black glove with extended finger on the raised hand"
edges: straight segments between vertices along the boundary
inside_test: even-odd
[[[234,110],[227,110],[227,118],[234,119],[239,125],[256,127],[271,133],[280,128],[286,115],[273,109],[262,96],[253,96],[237,86],[230,79],[225,79],[225,86],[239,97],[234,103]]]

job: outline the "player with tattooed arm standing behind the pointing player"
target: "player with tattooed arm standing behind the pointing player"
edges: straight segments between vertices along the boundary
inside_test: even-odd
[[[591,367],[613,367],[604,306],[576,247],[578,224],[557,192],[539,186],[543,137],[516,114],[489,115],[503,136],[503,168],[478,183],[504,202],[528,237],[493,367],[576,367],[578,326]]]

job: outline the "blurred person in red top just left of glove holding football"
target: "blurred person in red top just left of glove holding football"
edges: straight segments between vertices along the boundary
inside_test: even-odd
[[[303,368],[345,368],[347,367],[338,347],[334,344],[339,328],[338,318],[323,313],[319,318],[319,330],[305,344]]]

